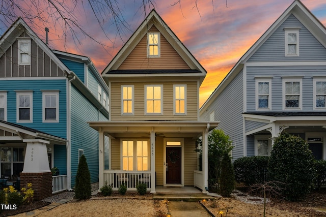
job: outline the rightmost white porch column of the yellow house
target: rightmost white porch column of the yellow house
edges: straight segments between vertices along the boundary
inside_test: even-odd
[[[205,132],[203,132],[203,187],[202,192],[204,194],[207,193],[208,189],[208,129],[209,129],[209,123],[207,124],[207,129]]]

